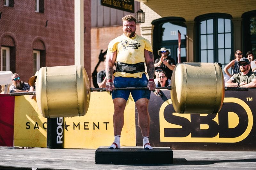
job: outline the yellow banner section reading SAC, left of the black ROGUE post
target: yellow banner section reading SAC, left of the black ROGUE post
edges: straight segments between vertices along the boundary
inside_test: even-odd
[[[35,100],[16,96],[14,107],[14,146],[46,147],[47,120]]]

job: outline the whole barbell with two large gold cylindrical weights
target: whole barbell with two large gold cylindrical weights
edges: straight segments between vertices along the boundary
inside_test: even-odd
[[[148,89],[147,87],[117,87]],[[222,70],[217,63],[178,63],[172,73],[171,86],[156,87],[171,90],[171,100],[177,113],[215,114],[222,107],[226,90],[248,88],[225,87]],[[36,94],[37,105],[45,118],[84,116],[92,91],[83,66],[42,67],[36,78],[36,91],[14,92],[11,96]]]

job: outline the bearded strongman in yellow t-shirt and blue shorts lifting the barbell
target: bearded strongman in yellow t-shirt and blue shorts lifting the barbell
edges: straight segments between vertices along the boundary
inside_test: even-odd
[[[153,149],[149,144],[148,101],[150,91],[155,90],[154,56],[150,42],[137,35],[136,18],[126,15],[122,18],[124,34],[110,41],[106,55],[106,90],[112,91],[114,103],[114,142],[108,149],[120,148],[120,137],[124,126],[124,109],[130,92],[139,114],[139,125],[144,149]],[[117,62],[115,79],[112,82],[113,66]],[[147,65],[148,78],[145,65]],[[143,90],[113,90],[115,87],[148,87]]]

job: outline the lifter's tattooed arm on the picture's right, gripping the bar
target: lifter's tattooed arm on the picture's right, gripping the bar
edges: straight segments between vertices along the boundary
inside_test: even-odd
[[[150,52],[148,50],[144,50],[144,56],[145,56],[145,61],[147,65],[147,73],[148,73],[148,78],[149,80],[153,81],[148,81],[148,89],[149,90],[155,90],[156,89],[156,84],[154,82],[154,74],[155,74],[155,65],[154,65],[154,55],[153,52]]]

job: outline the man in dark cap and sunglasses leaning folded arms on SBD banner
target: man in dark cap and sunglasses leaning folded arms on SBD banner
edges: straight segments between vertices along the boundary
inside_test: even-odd
[[[240,73],[234,74],[226,83],[227,87],[256,87],[256,73],[250,71],[250,61],[248,58],[241,58],[238,61]]]

